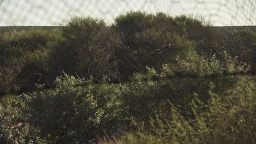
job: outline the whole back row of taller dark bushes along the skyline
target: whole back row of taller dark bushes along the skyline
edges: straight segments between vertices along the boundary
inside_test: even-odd
[[[254,35],[238,31],[226,36],[200,17],[143,12],[117,16],[111,26],[100,19],[74,17],[61,30],[6,32],[0,36],[0,93],[28,91],[37,83],[53,87],[62,70],[81,78],[92,75],[100,81],[106,76],[124,82],[134,72],[147,72],[146,66],[160,72],[163,64],[175,65],[177,55],[186,59],[195,51],[222,62],[227,51],[254,72]]]

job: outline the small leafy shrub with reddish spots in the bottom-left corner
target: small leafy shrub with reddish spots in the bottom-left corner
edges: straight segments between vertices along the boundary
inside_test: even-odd
[[[31,126],[25,100],[11,95],[0,101],[0,143],[43,143],[40,130]]]

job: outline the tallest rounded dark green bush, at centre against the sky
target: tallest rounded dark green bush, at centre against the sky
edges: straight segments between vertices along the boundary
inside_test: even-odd
[[[186,16],[182,18],[189,19]],[[179,18],[143,12],[128,12],[115,18],[112,27],[121,33],[122,42],[126,45],[117,49],[116,53],[123,79],[128,79],[134,72],[146,72],[146,66],[160,71],[163,64],[175,63],[177,55],[187,57],[188,53],[195,51],[197,43],[188,39],[188,31],[181,33],[181,29],[186,28],[186,23],[179,25],[178,23],[183,22],[175,20]]]

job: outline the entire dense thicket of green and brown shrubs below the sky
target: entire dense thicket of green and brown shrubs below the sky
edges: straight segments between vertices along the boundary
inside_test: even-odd
[[[0,143],[255,143],[255,44],[143,12],[1,33]]]

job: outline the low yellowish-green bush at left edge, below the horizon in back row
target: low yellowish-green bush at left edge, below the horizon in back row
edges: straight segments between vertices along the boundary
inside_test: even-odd
[[[0,93],[27,91],[46,83],[48,55],[61,40],[61,32],[13,31],[0,36]]]

